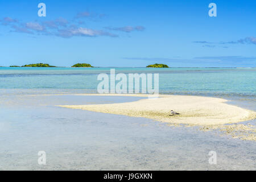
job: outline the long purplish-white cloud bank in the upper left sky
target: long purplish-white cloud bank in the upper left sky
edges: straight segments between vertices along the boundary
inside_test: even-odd
[[[86,18],[86,17],[103,17],[105,14],[92,14],[87,11],[78,13],[75,19]],[[143,26],[124,26],[119,28],[105,28],[109,31],[95,30],[94,28],[81,27],[81,20],[72,20],[70,23],[67,19],[57,18],[54,20],[47,20],[43,22],[26,22],[22,23],[16,19],[5,17],[0,19],[0,22],[4,26],[10,26],[10,32],[19,32],[23,34],[37,34],[37,35],[51,35],[59,36],[62,38],[71,38],[73,36],[86,36],[86,37],[97,37],[97,36],[109,36],[112,38],[117,38],[117,34],[113,34],[111,31],[143,31],[145,28]]]

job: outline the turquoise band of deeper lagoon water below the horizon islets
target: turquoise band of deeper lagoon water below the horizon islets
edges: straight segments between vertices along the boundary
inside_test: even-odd
[[[256,96],[256,69],[115,68],[116,73],[159,73],[159,92],[206,96]],[[71,89],[97,92],[110,68],[0,68],[0,89]]]

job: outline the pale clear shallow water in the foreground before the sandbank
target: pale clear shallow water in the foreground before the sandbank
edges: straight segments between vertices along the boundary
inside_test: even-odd
[[[3,97],[2,170],[256,169],[253,141],[220,137],[190,127],[170,127],[151,119],[55,106],[140,98],[19,93]],[[39,166],[38,151],[46,151],[46,166]],[[209,151],[217,152],[217,165],[208,163]]]

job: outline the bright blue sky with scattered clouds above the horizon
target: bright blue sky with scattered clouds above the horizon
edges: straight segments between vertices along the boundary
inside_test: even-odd
[[[256,1],[1,1],[0,66],[256,67],[255,20]]]

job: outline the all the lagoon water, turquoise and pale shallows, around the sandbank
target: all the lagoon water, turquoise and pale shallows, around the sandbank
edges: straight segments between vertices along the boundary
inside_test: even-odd
[[[196,127],[170,127],[146,118],[56,106],[140,99],[73,96],[96,93],[98,73],[109,70],[0,68],[0,170],[256,169],[254,141],[220,136],[218,131],[205,133]],[[221,97],[230,104],[256,110],[256,69],[116,71],[159,73],[162,94]],[[255,121],[248,122],[255,125]],[[46,166],[39,166],[38,151],[46,151]],[[208,163],[210,151],[217,152],[217,165]]]

